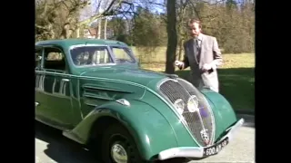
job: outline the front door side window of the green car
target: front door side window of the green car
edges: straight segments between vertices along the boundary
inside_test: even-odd
[[[65,72],[65,55],[58,48],[45,47],[44,69]]]

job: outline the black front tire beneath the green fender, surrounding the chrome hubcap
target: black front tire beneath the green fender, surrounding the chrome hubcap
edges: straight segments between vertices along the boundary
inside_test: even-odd
[[[102,158],[105,163],[121,163],[122,161],[115,161],[117,157],[113,157],[112,150],[113,147],[115,149],[120,149],[120,151],[125,151],[125,155],[127,157],[127,162],[125,163],[144,163],[144,161],[138,149],[135,145],[135,140],[129,134],[127,129],[120,124],[114,124],[109,126],[108,129],[105,130],[102,139]],[[121,152],[123,153],[123,152]],[[123,159],[123,158],[120,158]]]

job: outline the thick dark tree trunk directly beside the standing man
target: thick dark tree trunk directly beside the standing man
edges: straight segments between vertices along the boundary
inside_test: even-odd
[[[167,47],[166,47],[166,73],[174,73],[174,62],[176,60],[176,0],[168,0],[166,2],[167,13]]]

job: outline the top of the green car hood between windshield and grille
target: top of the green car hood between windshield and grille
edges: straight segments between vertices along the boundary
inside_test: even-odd
[[[106,78],[109,80],[118,80],[125,82],[135,82],[147,86],[149,82],[160,81],[167,76],[163,72],[152,72],[140,68],[125,68],[125,67],[98,67],[86,69],[80,72],[82,77]]]

